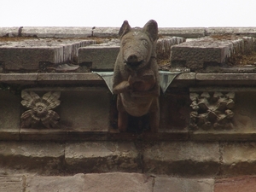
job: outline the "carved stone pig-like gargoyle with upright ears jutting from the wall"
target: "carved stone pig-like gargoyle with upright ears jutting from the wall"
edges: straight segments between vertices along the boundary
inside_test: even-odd
[[[157,132],[160,120],[160,81],[155,53],[157,23],[149,20],[143,28],[131,28],[125,20],[119,36],[120,50],[113,72],[119,131],[126,131],[128,113],[136,117],[148,113],[151,131]]]

